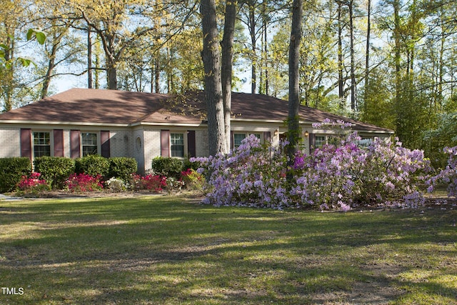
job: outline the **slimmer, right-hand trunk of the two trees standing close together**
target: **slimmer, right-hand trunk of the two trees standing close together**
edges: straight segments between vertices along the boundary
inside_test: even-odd
[[[233,63],[233,36],[235,33],[236,2],[227,1],[224,21],[224,37],[222,39],[222,96],[224,99],[224,126],[226,131],[226,150],[230,149],[231,119],[231,74]]]

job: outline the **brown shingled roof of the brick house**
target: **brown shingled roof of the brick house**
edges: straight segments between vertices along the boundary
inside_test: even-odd
[[[246,121],[284,121],[287,101],[263,94],[233,93],[233,119]],[[391,132],[378,126],[337,116],[306,106],[300,107],[301,121],[321,122],[328,118],[353,124],[353,129]],[[69,124],[201,124],[206,120],[203,92],[183,96],[141,92],[70,89],[19,109],[0,114],[0,122],[41,121]]]

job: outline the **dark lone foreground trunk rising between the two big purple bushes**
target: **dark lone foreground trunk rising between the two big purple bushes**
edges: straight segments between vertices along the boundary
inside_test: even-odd
[[[300,126],[298,110],[300,107],[300,87],[298,80],[298,62],[300,59],[301,19],[303,16],[303,0],[293,0],[291,41],[288,54],[288,156],[289,165],[298,151]]]

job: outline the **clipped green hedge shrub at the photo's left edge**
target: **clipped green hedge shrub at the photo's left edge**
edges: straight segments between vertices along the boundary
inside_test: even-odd
[[[31,162],[29,158],[1,158],[0,159],[0,193],[13,191],[16,184],[21,181],[22,176],[29,176],[31,173]]]

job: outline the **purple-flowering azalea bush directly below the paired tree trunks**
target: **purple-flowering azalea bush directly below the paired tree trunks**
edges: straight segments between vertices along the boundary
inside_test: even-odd
[[[248,136],[226,156],[218,154],[191,161],[204,166],[198,172],[207,177],[207,204],[272,208],[289,204],[286,159],[280,150],[262,147],[256,136]]]

